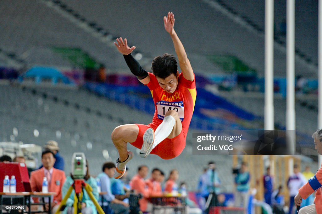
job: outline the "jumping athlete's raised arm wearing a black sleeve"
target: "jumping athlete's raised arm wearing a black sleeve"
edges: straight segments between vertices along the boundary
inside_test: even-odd
[[[114,42],[114,45],[118,48],[118,52],[123,54],[125,62],[130,68],[131,72],[137,76],[137,79],[139,79],[140,82],[143,84],[148,84],[150,82],[150,76],[131,55],[132,51],[135,49],[135,46],[128,47],[128,40],[124,39],[123,42],[122,37],[117,38],[116,41],[118,44]]]

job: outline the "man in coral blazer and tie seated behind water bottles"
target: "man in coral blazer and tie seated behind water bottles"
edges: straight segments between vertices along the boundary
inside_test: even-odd
[[[55,213],[62,201],[62,185],[65,183],[66,176],[64,171],[53,168],[55,158],[51,150],[43,151],[41,162],[43,167],[31,173],[31,190],[42,192],[43,178],[46,177],[48,181],[48,192],[56,193],[52,202],[52,213]],[[34,201],[38,202],[38,198],[35,198]]]

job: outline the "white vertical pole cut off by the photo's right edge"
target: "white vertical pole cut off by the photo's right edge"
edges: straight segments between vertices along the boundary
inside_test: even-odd
[[[319,0],[318,12],[318,128],[322,127],[322,1]],[[321,165],[322,157],[318,155],[318,164]]]

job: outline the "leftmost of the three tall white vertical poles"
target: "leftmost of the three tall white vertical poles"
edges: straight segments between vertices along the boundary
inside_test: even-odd
[[[274,0],[265,0],[264,130],[274,130]]]

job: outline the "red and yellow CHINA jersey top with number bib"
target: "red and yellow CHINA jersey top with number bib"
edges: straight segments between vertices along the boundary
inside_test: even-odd
[[[175,92],[169,94],[160,87],[159,82],[153,73],[149,73],[149,76],[150,82],[147,84],[147,87],[151,91],[156,108],[152,123],[149,125],[156,130],[156,128],[162,123],[166,112],[169,110],[175,110],[178,112],[182,123],[182,132],[186,138],[197,96],[195,78],[193,81],[189,81],[185,79],[182,73],[180,73],[178,77],[178,86]]]

